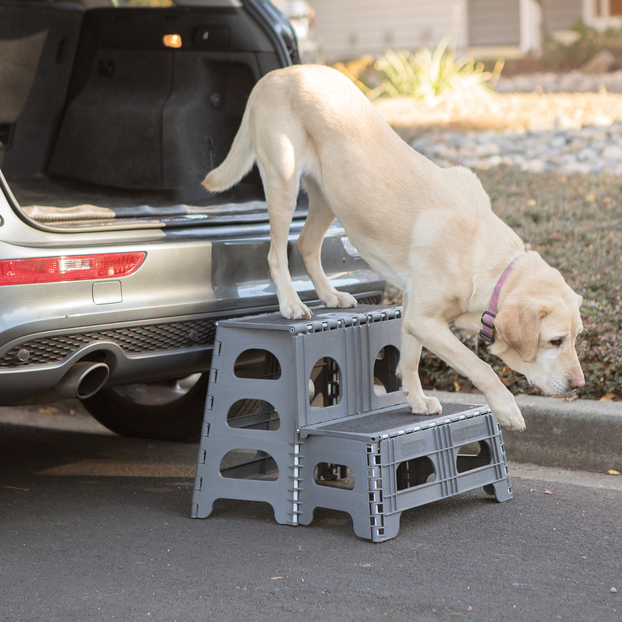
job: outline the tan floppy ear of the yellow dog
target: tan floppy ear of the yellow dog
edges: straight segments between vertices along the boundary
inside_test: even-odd
[[[544,305],[533,302],[509,302],[494,319],[494,330],[525,363],[536,358],[540,338],[540,320],[549,313]]]

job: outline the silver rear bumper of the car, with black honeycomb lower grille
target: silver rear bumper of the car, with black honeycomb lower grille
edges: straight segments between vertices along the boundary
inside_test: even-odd
[[[307,304],[317,294],[295,249],[302,223],[289,239],[290,274]],[[239,232],[238,232],[239,233]],[[123,246],[27,248],[0,243],[0,259],[19,256],[147,253],[142,266],[121,281],[123,300],[96,304],[93,284],[74,281],[0,287],[0,406],[35,401],[60,381],[72,364],[108,364],[108,385],[156,381],[205,371],[218,318],[278,310],[269,277],[269,231],[246,230],[236,238],[193,230],[188,236]],[[327,233],[322,263],[340,290],[361,302],[381,300],[384,281],[343,246],[340,226]],[[21,362],[17,353],[26,350]],[[22,356],[23,358],[23,356]]]

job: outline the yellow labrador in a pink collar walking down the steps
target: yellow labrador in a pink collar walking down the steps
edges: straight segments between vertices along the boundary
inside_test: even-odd
[[[297,65],[259,80],[230,153],[203,185],[222,192],[254,162],[266,192],[268,262],[284,317],[311,317],[287,266],[301,180],[309,216],[297,247],[320,300],[327,307],[356,305],[330,284],[320,263],[322,239],[335,216],[361,256],[404,290],[399,368],[412,412],[442,410],[419,381],[425,346],[483,392],[500,424],[525,428],[511,392],[454,337],[452,321],[471,330],[480,330],[483,321],[481,334],[489,341],[494,323],[493,353],[545,393],[585,384],[575,351],[581,297],[539,254],[525,251],[493,214],[470,170],[442,169],[411,149],[341,73]]]

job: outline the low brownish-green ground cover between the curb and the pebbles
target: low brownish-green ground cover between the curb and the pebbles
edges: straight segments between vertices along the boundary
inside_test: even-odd
[[[559,269],[584,298],[583,326],[577,342],[585,373],[579,397],[622,400],[622,179],[606,175],[531,174],[513,167],[478,172],[494,212],[545,261]],[[401,293],[388,290],[392,303]],[[454,330],[474,348],[475,335]],[[478,355],[490,363],[514,393],[537,389],[504,366],[478,341]],[[470,391],[462,378],[424,350],[420,364],[424,388]]]

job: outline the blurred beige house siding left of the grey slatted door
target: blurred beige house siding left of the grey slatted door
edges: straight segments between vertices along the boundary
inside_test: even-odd
[[[518,0],[517,0],[518,1]],[[466,47],[466,0],[310,0],[327,63],[388,48],[434,48],[452,33],[458,14],[458,47]]]

